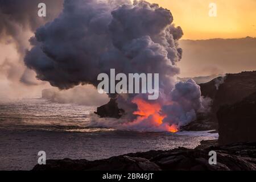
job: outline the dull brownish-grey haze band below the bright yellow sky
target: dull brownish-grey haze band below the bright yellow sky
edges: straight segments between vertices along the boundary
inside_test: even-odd
[[[256,38],[180,40],[180,77],[256,70]]]

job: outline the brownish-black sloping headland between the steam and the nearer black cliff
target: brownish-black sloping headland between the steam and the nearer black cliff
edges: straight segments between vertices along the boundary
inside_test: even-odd
[[[217,111],[222,105],[235,104],[256,92],[256,71],[227,74],[205,84],[200,84],[204,97],[212,99],[208,114],[197,114],[197,119],[182,130],[218,130]]]

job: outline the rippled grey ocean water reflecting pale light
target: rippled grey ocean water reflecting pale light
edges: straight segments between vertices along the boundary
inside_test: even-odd
[[[148,150],[195,148],[217,139],[208,131],[155,133],[86,127],[96,107],[56,104],[42,98],[0,100],[0,170],[30,170],[38,152],[47,159],[105,159]]]

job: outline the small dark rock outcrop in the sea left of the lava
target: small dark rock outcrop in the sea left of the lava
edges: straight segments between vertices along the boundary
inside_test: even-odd
[[[114,98],[111,98],[108,104],[97,107],[95,114],[100,115],[101,118],[120,118],[125,113],[123,109],[119,109],[117,102]]]

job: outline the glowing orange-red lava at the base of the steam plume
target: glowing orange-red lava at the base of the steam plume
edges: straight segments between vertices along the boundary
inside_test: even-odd
[[[161,115],[159,113],[161,109],[161,105],[158,103],[148,103],[147,101],[142,100],[141,98],[134,98],[134,104],[137,104],[138,110],[135,111],[133,114],[139,115],[137,122],[142,121],[148,117],[151,117],[152,121],[154,122],[153,125],[155,127],[161,127],[163,124],[163,119],[166,115]],[[176,133],[178,131],[177,125],[164,125],[164,130],[170,131],[171,133]]]

